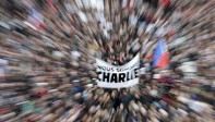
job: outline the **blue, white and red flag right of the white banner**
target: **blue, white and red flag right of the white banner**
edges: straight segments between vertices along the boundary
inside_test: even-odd
[[[154,51],[153,66],[166,68],[169,64],[169,52],[167,49],[167,42],[163,38],[158,40],[157,47]]]

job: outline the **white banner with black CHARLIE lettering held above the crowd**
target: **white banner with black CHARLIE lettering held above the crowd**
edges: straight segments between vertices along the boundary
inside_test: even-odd
[[[99,87],[123,88],[139,84],[138,71],[140,68],[140,54],[138,53],[124,65],[116,66],[96,59]]]

